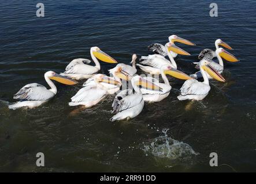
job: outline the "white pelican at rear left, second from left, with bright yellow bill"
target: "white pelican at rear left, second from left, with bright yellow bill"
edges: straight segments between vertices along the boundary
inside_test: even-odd
[[[101,51],[98,47],[91,47],[90,53],[95,66],[88,65],[88,63],[91,62],[88,59],[74,59],[68,64],[68,66],[66,66],[66,71],[61,73],[61,75],[68,76],[69,78],[76,80],[88,79],[101,70],[101,65],[99,64],[98,59],[106,63],[117,63],[115,59]]]

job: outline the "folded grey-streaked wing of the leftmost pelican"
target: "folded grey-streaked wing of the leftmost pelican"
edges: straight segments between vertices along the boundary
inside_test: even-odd
[[[31,101],[47,101],[54,97],[54,93],[47,90],[46,87],[39,85],[38,83],[31,83],[25,85],[16,94],[14,94],[14,99],[24,99]]]

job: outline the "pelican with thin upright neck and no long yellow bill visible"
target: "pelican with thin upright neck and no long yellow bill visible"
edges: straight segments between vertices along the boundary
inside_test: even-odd
[[[116,69],[121,67],[122,70],[127,72],[130,76],[135,75],[137,72],[136,59],[137,59],[137,55],[133,53],[132,61],[131,61],[132,66],[129,66],[128,64],[124,64],[124,63],[118,63],[116,67],[109,70],[109,73],[114,76],[114,72],[116,71]]]

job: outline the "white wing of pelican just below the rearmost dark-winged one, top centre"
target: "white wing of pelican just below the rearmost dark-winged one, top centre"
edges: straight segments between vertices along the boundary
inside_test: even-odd
[[[149,56],[142,56],[140,59],[140,64],[146,64],[148,66],[154,67],[154,68],[161,68],[164,65],[170,65],[170,61],[168,59],[165,59],[164,56],[161,55],[149,55]]]

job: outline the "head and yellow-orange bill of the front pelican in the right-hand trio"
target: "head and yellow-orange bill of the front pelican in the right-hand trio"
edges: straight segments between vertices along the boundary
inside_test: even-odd
[[[210,76],[212,76],[212,78],[220,82],[225,82],[224,77],[210,65],[209,60],[201,60],[199,62],[199,66],[202,67],[202,69],[205,70]]]

